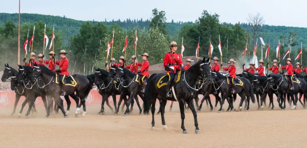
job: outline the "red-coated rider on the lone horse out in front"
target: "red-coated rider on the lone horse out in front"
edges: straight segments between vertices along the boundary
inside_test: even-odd
[[[163,66],[169,77],[167,87],[166,87],[166,97],[172,97],[171,86],[172,86],[174,77],[176,73],[181,70],[181,67],[183,67],[181,55],[179,53],[176,53],[177,46],[178,46],[177,43],[175,41],[172,41],[169,45],[169,48],[171,51],[165,54],[164,60],[163,60]]]

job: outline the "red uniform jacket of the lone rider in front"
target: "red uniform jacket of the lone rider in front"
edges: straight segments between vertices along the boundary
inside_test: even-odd
[[[163,60],[163,66],[169,65],[169,67],[174,68],[174,73],[176,73],[176,69],[181,70],[180,66],[182,65],[181,55],[179,53],[166,53]],[[171,71],[167,71],[169,73]]]

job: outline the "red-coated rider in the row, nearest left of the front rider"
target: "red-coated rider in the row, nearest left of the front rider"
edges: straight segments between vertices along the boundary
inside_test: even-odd
[[[146,80],[149,77],[149,73],[148,73],[149,62],[148,62],[147,58],[150,57],[150,56],[148,55],[148,53],[144,53],[141,56],[143,58],[143,62],[142,63],[137,62],[137,65],[141,66],[141,70],[138,71],[138,74],[141,74],[140,77],[141,77],[141,84],[142,84],[142,88],[143,88],[142,93],[144,93],[145,88],[146,88],[146,84],[147,84]]]

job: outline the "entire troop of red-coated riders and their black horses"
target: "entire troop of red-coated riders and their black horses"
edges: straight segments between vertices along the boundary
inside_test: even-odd
[[[288,78],[278,74],[279,67],[277,66],[277,60],[275,59],[273,60],[272,67],[267,65],[267,69],[272,71],[272,74],[268,76],[265,76],[262,60],[259,61],[258,68],[255,68],[254,64],[251,63],[250,68],[244,69],[242,74],[236,74],[236,67],[234,65],[236,61],[234,61],[234,59],[230,59],[228,61],[230,65],[223,69],[229,73],[222,75],[219,71],[221,67],[223,68],[223,65],[218,64],[217,57],[213,57],[212,66],[210,65],[210,58],[206,59],[205,57],[203,60],[195,62],[194,65],[191,65],[191,59],[187,59],[186,64],[184,65],[181,55],[176,53],[178,46],[179,45],[177,45],[175,41],[170,43],[170,52],[165,54],[163,60],[163,66],[166,73],[161,74],[151,74],[149,76],[149,62],[147,58],[150,58],[150,56],[148,53],[144,53],[141,55],[143,59],[142,62],[137,62],[136,57],[132,56],[130,64],[126,65],[125,58],[121,56],[118,63],[116,63],[115,58],[112,58],[109,65],[105,64],[105,67],[109,72],[103,69],[95,69],[95,74],[92,75],[83,76],[73,74],[70,76],[68,71],[69,60],[66,57],[68,53],[61,50],[58,53],[61,57],[59,61],[55,59],[54,56],[56,54],[53,51],[49,53],[49,60],[43,59],[45,56],[39,54],[38,61],[35,60],[36,55],[32,52],[29,62],[26,62],[26,59],[24,59],[25,66],[19,66],[19,71],[14,70],[7,64],[2,81],[7,81],[11,78],[11,88],[16,92],[13,113],[15,112],[20,96],[26,96],[26,101],[23,103],[19,112],[20,115],[25,104],[28,103],[29,109],[26,116],[29,115],[32,108],[35,110],[34,101],[38,96],[41,96],[43,99],[47,112],[46,117],[49,117],[50,115],[50,108],[53,106],[53,99],[56,103],[55,106],[57,109],[60,109],[64,117],[67,117],[71,103],[69,96],[76,101],[77,109],[75,115],[80,114],[79,110],[81,106],[83,106],[83,115],[85,115],[85,98],[90,93],[94,84],[102,95],[100,114],[104,113],[104,102],[106,102],[108,107],[113,110],[108,104],[107,98],[109,96],[112,96],[113,98],[116,114],[118,113],[122,100],[124,100],[124,103],[126,104],[124,115],[128,114],[130,110],[133,109],[134,100],[136,100],[140,113],[142,113],[142,108],[140,107],[137,97],[139,95],[144,102],[144,114],[148,114],[150,107],[155,107],[156,99],[160,101],[159,112],[162,116],[162,124],[166,127],[164,121],[166,100],[178,101],[182,118],[182,130],[184,133],[186,132],[186,129],[184,128],[185,103],[188,104],[188,107],[194,115],[195,132],[198,133],[198,123],[192,100],[195,99],[198,110],[201,110],[204,100],[210,103],[212,110],[209,94],[214,94],[216,98],[215,107],[217,102],[220,102],[221,107],[220,110],[218,110],[219,112],[222,110],[225,99],[229,103],[228,111],[234,110],[232,102],[235,100],[236,94],[241,97],[239,104],[240,109],[242,109],[242,103],[246,101],[247,110],[249,110],[250,98],[252,99],[252,102],[255,101],[254,94],[256,94],[257,97],[258,108],[260,107],[258,95],[261,96],[261,107],[262,99],[266,98],[266,95],[269,95],[272,109],[274,108],[273,94],[277,96],[279,107],[282,109],[286,107],[284,97],[286,94],[291,95],[294,107],[297,101],[297,94],[300,93],[300,98],[302,94],[304,94],[304,96],[306,95],[307,83],[300,78],[298,78],[299,81],[296,81],[293,72],[299,75],[301,71],[307,71],[307,68],[301,69],[299,63],[297,63],[296,69],[293,69],[290,58],[287,59],[286,66],[279,65],[281,69],[287,70],[286,75]],[[48,68],[46,67],[46,64],[48,64]],[[55,69],[56,65],[59,66],[59,69]],[[139,69],[139,67],[141,68]],[[255,74],[255,71],[258,73]],[[237,78],[237,75],[239,75],[240,78]],[[13,80],[17,80],[18,84],[15,84]],[[294,84],[293,81],[296,81],[298,84]],[[27,93],[33,94],[32,96],[27,96]],[[221,93],[221,97],[218,95],[219,93]],[[198,104],[198,94],[204,95],[200,105]],[[294,94],[296,100],[294,100]],[[63,95],[67,101],[67,112],[63,109],[63,101],[60,98],[60,95]],[[118,105],[116,105],[116,95],[120,95]],[[48,104],[46,102],[46,97]],[[281,102],[280,99],[282,99]],[[282,101],[284,103],[283,107]],[[131,109],[129,110],[130,104]],[[305,104],[305,97],[303,104]],[[154,127],[155,122],[153,116],[155,114],[155,108],[151,108],[151,113],[151,124],[152,127]]]

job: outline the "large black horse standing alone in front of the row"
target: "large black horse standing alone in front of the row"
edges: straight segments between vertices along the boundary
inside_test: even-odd
[[[182,120],[181,129],[183,130],[183,133],[184,134],[188,133],[184,126],[185,102],[188,103],[194,116],[195,133],[199,133],[200,130],[198,127],[198,120],[196,115],[197,113],[195,111],[192,100],[195,97],[196,91],[200,90],[203,86],[203,84],[199,86],[198,83],[199,79],[202,79],[202,83],[204,83],[205,81],[212,81],[210,67],[209,67],[209,58],[207,60],[203,58],[203,60],[196,62],[196,64],[194,64],[193,66],[191,66],[191,68],[189,68],[187,71],[184,71],[181,74],[179,81],[177,83],[174,83],[172,87],[173,95],[171,98],[166,97],[165,85],[161,86],[160,88],[157,86],[157,84],[159,83],[159,79],[161,79],[161,77],[163,77],[164,75],[165,73],[152,74],[147,81],[147,87],[145,90],[145,98],[144,98],[144,114],[148,114],[149,109],[151,107],[152,128],[155,128],[155,106],[156,106],[156,100],[158,98],[160,99],[161,118],[164,129],[167,128],[164,119],[165,105],[167,100],[171,100],[171,101],[179,101],[181,120]]]

